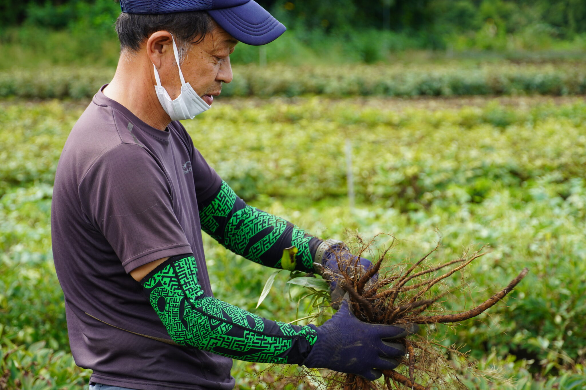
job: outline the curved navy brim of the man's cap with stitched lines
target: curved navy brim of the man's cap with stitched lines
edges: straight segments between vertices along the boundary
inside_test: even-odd
[[[272,42],[287,30],[254,0],[231,8],[210,9],[207,13],[231,36],[254,46]]]

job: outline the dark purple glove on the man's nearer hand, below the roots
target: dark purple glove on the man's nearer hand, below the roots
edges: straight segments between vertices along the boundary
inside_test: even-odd
[[[407,325],[375,325],[356,318],[346,299],[340,310],[322,326],[309,324],[318,333],[318,339],[303,361],[308,368],[329,368],[339,372],[360,375],[373,381],[399,364],[394,358],[405,354],[402,344],[390,343],[417,333],[419,327]]]

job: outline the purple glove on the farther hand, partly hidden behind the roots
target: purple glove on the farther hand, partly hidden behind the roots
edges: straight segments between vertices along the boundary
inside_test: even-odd
[[[332,307],[338,310],[340,301],[342,301],[342,297],[346,291],[340,287],[339,282],[342,280],[342,275],[340,274],[338,258],[336,258],[336,256],[340,259],[340,264],[345,267],[344,270],[348,275],[350,275],[350,277],[352,277],[356,271],[360,272],[360,275],[363,275],[364,272],[366,272],[366,270],[368,270],[370,267],[373,267],[374,264],[370,260],[367,260],[364,257],[360,257],[357,264],[358,267],[355,267],[354,265],[356,264],[358,257],[350,253],[350,251],[343,247],[342,243],[339,241],[330,246],[329,249],[323,253],[321,264],[327,270],[334,272],[334,275],[329,278],[330,295],[332,297]],[[373,277],[371,277],[366,282],[366,286],[376,281],[378,277],[379,274],[374,274]]]

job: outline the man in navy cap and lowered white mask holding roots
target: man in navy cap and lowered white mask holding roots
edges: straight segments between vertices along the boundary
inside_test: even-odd
[[[252,0],[122,0],[121,8],[118,68],[71,130],[52,203],[71,353],[93,370],[90,388],[227,390],[231,358],[367,379],[396,367],[404,350],[391,339],[406,327],[363,323],[347,301],[318,327],[213,298],[202,229],[268,267],[296,247],[295,269],[338,270],[339,242],[247,206],[178,122],[209,109],[232,80],[237,42],[265,44],[285,27]]]

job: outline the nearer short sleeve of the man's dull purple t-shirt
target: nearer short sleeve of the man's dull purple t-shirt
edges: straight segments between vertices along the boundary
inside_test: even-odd
[[[173,212],[171,185],[155,157],[137,144],[106,151],[80,182],[81,208],[128,273],[191,250]]]

